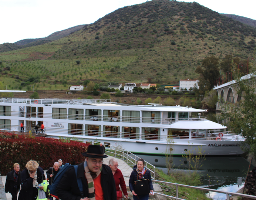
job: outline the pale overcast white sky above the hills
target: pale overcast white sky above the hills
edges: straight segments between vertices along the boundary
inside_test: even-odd
[[[255,0],[195,1],[218,13],[256,20]],[[47,37],[56,31],[94,23],[124,6],[144,2],[146,0],[0,0],[0,44]]]

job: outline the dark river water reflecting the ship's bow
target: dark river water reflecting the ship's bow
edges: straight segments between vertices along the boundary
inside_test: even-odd
[[[138,155],[167,173],[165,156]],[[242,156],[206,157],[198,172],[202,185],[211,189],[236,192],[243,187],[249,162]],[[173,168],[188,171],[188,162],[183,157],[173,157]],[[251,169],[253,166],[251,166]],[[208,193],[213,200],[225,200],[226,194]]]

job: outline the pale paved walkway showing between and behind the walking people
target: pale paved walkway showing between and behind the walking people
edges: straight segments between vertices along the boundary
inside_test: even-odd
[[[107,158],[103,159],[103,163],[105,165],[108,165],[108,161],[111,159],[112,156],[108,156]],[[130,176],[131,172],[132,172],[132,168],[127,165],[127,163],[125,163],[123,160],[117,159],[118,160],[118,169],[121,170],[122,174],[124,176]],[[46,171],[44,170],[44,174],[46,175]],[[6,176],[0,176],[0,200],[11,200],[11,194],[10,193],[5,193],[4,191],[4,185],[6,182]],[[3,182],[3,184],[1,185],[1,180]],[[129,178],[128,177],[124,177],[125,180],[125,184],[128,186],[129,185]],[[6,195],[6,196],[5,196]]]

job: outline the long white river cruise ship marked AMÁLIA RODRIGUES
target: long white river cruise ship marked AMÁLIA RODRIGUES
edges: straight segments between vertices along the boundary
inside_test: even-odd
[[[127,105],[108,99],[0,99],[0,129],[29,132],[44,124],[51,138],[101,142],[150,155],[240,155],[243,138],[182,106]],[[194,116],[195,115],[195,116]],[[199,147],[199,148],[198,148]]]

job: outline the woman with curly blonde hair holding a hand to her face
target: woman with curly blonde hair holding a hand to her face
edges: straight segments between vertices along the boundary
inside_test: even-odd
[[[35,160],[28,161],[26,169],[21,172],[21,190],[18,200],[36,200],[38,188],[43,190],[43,186],[39,186],[43,180],[46,180],[44,170]]]

